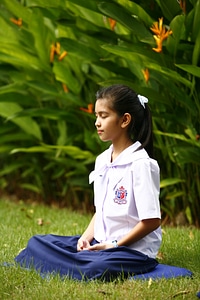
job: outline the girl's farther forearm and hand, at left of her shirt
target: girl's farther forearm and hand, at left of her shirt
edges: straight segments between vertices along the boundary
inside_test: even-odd
[[[84,231],[77,243],[77,251],[82,251],[90,247],[90,242],[94,238],[94,222],[95,222],[96,213],[92,217],[87,229]]]

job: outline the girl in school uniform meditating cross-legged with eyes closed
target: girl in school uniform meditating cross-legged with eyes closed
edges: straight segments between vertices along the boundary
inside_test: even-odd
[[[127,278],[156,267],[159,167],[147,102],[124,85],[97,92],[97,133],[112,144],[89,176],[96,212],[81,236],[33,236],[15,258],[21,266],[78,280]]]

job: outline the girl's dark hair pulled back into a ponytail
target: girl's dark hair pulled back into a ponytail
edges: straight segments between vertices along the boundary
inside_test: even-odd
[[[131,115],[128,133],[133,142],[139,141],[150,157],[153,157],[152,118],[148,105],[140,103],[138,95],[126,85],[114,84],[104,87],[96,93],[96,99],[110,100],[110,108],[121,117]]]

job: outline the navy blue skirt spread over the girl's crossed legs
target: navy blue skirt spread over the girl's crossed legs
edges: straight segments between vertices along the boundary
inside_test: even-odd
[[[77,236],[35,235],[15,257],[23,268],[34,268],[42,276],[59,274],[77,280],[110,281],[153,270],[158,262],[128,247],[77,252]],[[97,243],[93,240],[91,244]]]

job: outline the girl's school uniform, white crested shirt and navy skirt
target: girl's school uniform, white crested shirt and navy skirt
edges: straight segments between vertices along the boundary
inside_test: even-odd
[[[100,154],[89,176],[94,182],[95,243],[120,240],[139,221],[160,218],[159,167],[139,142],[125,149],[111,162],[112,145]],[[26,268],[41,274],[59,273],[77,280],[111,280],[120,274],[148,272],[161,243],[160,227],[129,247],[77,252],[80,236],[33,236],[15,258]]]

